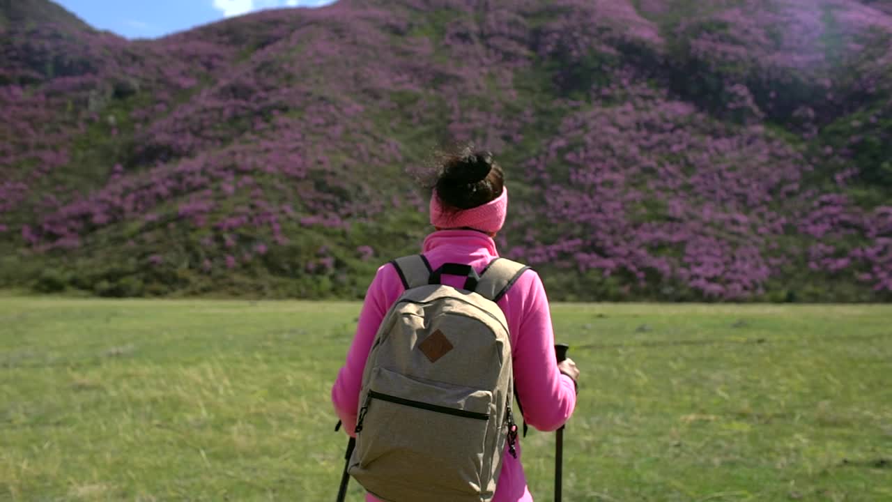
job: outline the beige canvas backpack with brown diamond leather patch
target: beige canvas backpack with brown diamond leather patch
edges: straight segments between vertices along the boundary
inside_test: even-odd
[[[508,322],[496,302],[529,267],[496,258],[432,271],[392,262],[405,287],[378,329],[359,392],[350,475],[392,502],[486,502],[502,455],[516,456]],[[463,289],[440,283],[467,277]]]

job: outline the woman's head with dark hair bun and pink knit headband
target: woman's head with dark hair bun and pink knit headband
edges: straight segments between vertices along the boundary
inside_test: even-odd
[[[434,227],[490,235],[501,230],[508,211],[508,188],[492,154],[466,148],[458,155],[446,155],[438,167],[431,197]]]

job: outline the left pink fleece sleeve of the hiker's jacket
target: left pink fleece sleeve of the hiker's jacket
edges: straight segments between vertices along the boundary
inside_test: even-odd
[[[368,352],[375,341],[378,326],[384,320],[384,315],[401,292],[402,283],[393,266],[385,264],[379,268],[375,280],[372,280],[366,292],[356,336],[353,337],[350,350],[347,352],[346,364],[338,372],[337,380],[332,387],[335,412],[351,436],[355,435],[353,429],[356,427],[356,415],[359,411],[359,388],[362,386],[362,372],[366,369]]]

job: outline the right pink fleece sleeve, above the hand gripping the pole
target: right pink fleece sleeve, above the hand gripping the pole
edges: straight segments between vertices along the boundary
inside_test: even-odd
[[[549,300],[539,274],[526,272],[516,285],[524,294],[516,335],[514,378],[524,420],[540,431],[556,431],[576,406],[573,379],[558,371]]]

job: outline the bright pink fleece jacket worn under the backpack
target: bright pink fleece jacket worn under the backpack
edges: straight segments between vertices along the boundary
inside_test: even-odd
[[[434,270],[445,263],[456,263],[469,264],[482,272],[498,256],[492,239],[475,230],[436,231],[425,238],[423,252]],[[444,276],[442,282],[461,287],[464,279]],[[385,264],[379,268],[366,293],[347,362],[332,388],[335,411],[344,430],[351,435],[356,426],[359,387],[368,351],[384,314],[402,292],[402,282],[393,266]],[[532,270],[524,272],[500,299],[499,306],[508,319],[514,379],[524,406],[524,420],[540,431],[555,431],[573,414],[576,393],[573,380],[561,374],[555,362],[549,302],[539,275]],[[533,500],[520,463],[520,445],[517,446],[517,458],[507,452],[503,456],[505,460],[492,502]],[[376,502],[377,498],[367,495],[366,500]]]

